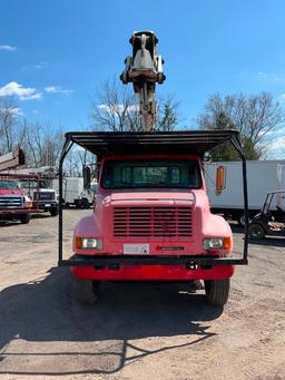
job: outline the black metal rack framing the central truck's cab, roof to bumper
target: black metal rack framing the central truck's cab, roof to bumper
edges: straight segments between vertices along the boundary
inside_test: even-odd
[[[59,228],[58,228],[58,265],[59,266],[95,266],[95,265],[177,265],[185,264],[189,267],[196,265],[246,265],[248,263],[248,196],[246,179],[246,160],[237,130],[176,130],[176,131],[141,131],[141,133],[112,133],[112,131],[70,131],[65,135],[59,162]],[[242,259],[217,257],[202,255],[174,255],[174,256],[134,256],[134,255],[76,255],[62,259],[62,167],[63,162],[72,145],[95,154],[98,162],[107,155],[120,154],[194,154],[204,157],[205,153],[229,142],[237,150],[242,160],[245,237]],[[129,232],[126,231],[126,234]]]

